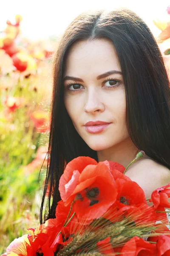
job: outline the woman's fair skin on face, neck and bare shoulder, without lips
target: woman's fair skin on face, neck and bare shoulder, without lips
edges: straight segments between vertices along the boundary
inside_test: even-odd
[[[98,160],[111,160],[127,167],[139,149],[132,143],[126,127],[121,71],[108,39],[76,42],[65,61],[64,103],[75,129],[85,143],[97,151]],[[85,124],[98,120],[109,125],[99,133],[87,131]],[[126,175],[144,189],[146,198],[154,189],[170,182],[170,170],[149,157],[133,163]]]

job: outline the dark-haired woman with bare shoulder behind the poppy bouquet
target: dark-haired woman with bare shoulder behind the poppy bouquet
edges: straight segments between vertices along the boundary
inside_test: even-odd
[[[44,219],[55,218],[59,178],[78,156],[111,160],[146,197],[170,182],[170,89],[159,47],[128,9],[79,15],[54,55]]]

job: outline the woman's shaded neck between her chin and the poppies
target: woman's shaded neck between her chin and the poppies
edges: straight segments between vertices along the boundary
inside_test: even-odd
[[[110,160],[126,168],[139,151],[129,137],[111,148],[97,151],[97,157],[99,162]]]

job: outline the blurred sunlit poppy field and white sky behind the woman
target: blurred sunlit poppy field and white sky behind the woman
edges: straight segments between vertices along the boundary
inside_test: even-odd
[[[138,1],[137,1],[138,2]],[[148,3],[147,3],[148,2]],[[26,6],[26,3],[28,6]],[[2,4],[2,3],[1,3]],[[0,15],[0,254],[39,225],[51,108],[51,56],[87,9],[125,6],[148,24],[170,67],[170,2],[6,1]],[[8,8],[7,8],[8,7]],[[10,8],[9,8],[10,7]],[[39,176],[40,169],[42,172]]]

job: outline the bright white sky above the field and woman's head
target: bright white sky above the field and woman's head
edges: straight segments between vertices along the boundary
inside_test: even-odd
[[[6,20],[23,16],[22,34],[37,40],[48,35],[61,35],[66,26],[82,11],[112,9],[125,6],[136,12],[150,27],[154,35],[160,31],[152,20],[164,17],[170,0],[0,0],[0,31]]]

